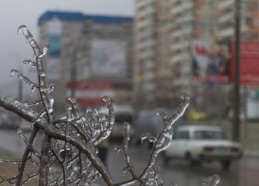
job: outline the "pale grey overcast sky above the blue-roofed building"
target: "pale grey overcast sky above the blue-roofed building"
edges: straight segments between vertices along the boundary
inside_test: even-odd
[[[33,53],[25,44],[25,36],[17,36],[20,25],[26,25],[38,41],[38,18],[45,11],[73,11],[93,15],[134,16],[134,0],[0,0],[0,94],[15,95],[18,79],[10,79],[10,70],[19,69],[18,60],[6,53],[18,53],[22,60],[31,59]],[[20,65],[22,61],[20,61]],[[28,77],[30,67],[24,69]],[[25,86],[26,88],[26,86]],[[28,87],[27,87],[28,88]],[[16,95],[15,95],[16,96]]]

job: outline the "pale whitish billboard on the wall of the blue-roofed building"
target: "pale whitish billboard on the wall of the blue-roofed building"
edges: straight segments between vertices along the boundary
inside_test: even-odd
[[[126,41],[120,39],[92,40],[92,74],[124,77],[126,72]]]

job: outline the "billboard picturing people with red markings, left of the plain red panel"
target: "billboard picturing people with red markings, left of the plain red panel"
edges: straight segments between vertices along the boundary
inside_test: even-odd
[[[230,82],[229,43],[194,40],[190,51],[194,84],[226,84]]]

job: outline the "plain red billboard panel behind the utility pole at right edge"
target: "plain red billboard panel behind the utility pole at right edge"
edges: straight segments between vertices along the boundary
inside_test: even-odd
[[[231,43],[231,82],[235,76],[235,42]],[[259,84],[259,42],[240,42],[240,83]]]

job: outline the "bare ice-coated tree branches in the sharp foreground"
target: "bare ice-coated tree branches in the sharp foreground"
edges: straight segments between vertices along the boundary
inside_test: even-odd
[[[189,96],[183,94],[183,102],[179,106],[176,113],[167,116],[161,110],[160,114],[164,121],[162,132],[158,136],[152,136],[150,133],[143,134],[141,140],[148,139],[153,142],[153,149],[148,164],[144,171],[137,175],[132,166],[132,160],[129,154],[129,140],[130,140],[130,124],[125,123],[125,138],[122,147],[116,147],[118,152],[123,152],[125,157],[125,168],[123,171],[130,171],[132,178],[123,182],[115,182],[109,173],[106,166],[97,156],[98,150],[96,145],[107,138],[111,133],[114,123],[114,109],[111,100],[104,96],[103,100],[106,102],[109,109],[109,116],[106,118],[100,107],[87,107],[85,115],[80,108],[80,105],[73,96],[68,99],[71,104],[66,105],[66,112],[64,115],[55,118],[53,116],[53,98],[49,95],[55,86],[45,85],[45,70],[42,65],[42,57],[50,47],[44,44],[42,48],[34,40],[31,33],[25,25],[18,29],[18,33],[22,32],[27,42],[30,44],[34,51],[33,60],[25,60],[24,65],[31,65],[36,67],[38,72],[37,84],[29,80],[27,77],[20,74],[18,70],[11,70],[11,74],[15,74],[19,79],[25,81],[26,84],[31,86],[31,93],[38,89],[41,96],[40,100],[22,101],[12,99],[0,95],[0,106],[18,114],[23,119],[31,122],[33,131],[29,139],[25,137],[22,130],[18,128],[18,135],[25,141],[27,149],[25,150],[22,159],[5,159],[0,158],[1,162],[18,163],[18,173],[12,178],[6,178],[0,173],[0,183],[10,182],[13,185],[25,185],[31,178],[39,175],[39,185],[90,185],[92,182],[100,178],[104,178],[107,185],[130,185],[134,182],[139,182],[140,185],[163,185],[158,168],[155,166],[155,159],[158,153],[165,150],[173,135],[172,126],[174,122],[183,115],[189,104]],[[37,113],[33,109],[29,109],[32,105],[43,105],[43,110]],[[71,112],[72,107],[76,109],[76,114]],[[87,117],[88,115],[88,117]],[[89,117],[90,115],[90,117]],[[45,118],[43,117],[45,116]],[[39,130],[44,131],[44,139],[41,152],[34,149],[34,141]],[[64,156],[61,155],[64,154]],[[36,158],[33,158],[36,157]],[[37,160],[35,160],[37,159]],[[27,175],[23,179],[25,164],[31,161],[38,166],[38,171]],[[59,163],[62,166],[61,171],[53,173],[52,166]],[[90,166],[92,164],[92,166]],[[94,167],[94,168],[93,168]],[[217,185],[219,182],[218,175],[210,178],[207,185]],[[174,182],[172,185],[176,185]]]

